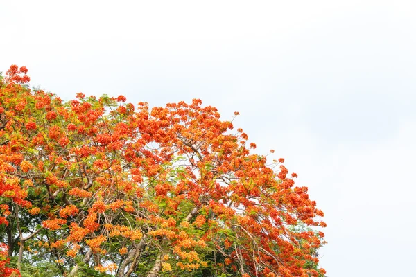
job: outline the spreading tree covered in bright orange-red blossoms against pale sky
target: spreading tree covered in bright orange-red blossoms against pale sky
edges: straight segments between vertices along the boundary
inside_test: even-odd
[[[214,107],[63,102],[26,73],[0,79],[0,239],[21,272],[323,276],[322,211]]]

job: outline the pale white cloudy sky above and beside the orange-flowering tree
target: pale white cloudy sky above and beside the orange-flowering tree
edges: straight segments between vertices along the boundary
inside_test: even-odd
[[[327,276],[416,276],[416,1],[1,2],[0,71],[239,111],[324,211]]]

